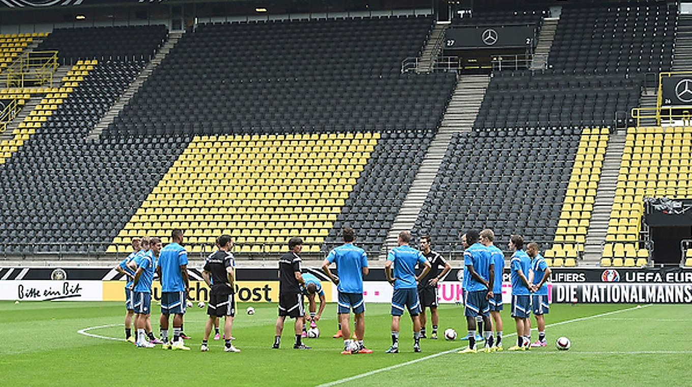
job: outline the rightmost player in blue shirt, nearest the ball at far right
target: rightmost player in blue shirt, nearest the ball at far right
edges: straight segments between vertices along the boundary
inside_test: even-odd
[[[550,278],[551,270],[545,263],[543,256],[538,253],[538,244],[531,242],[526,246],[526,253],[531,257],[531,273],[529,273],[529,282],[533,286],[534,294],[531,296],[531,305],[536,317],[536,325],[538,325],[538,340],[531,343],[531,347],[545,347],[545,318],[544,314],[550,312],[548,306],[548,278]],[[529,330],[529,334],[531,331]]]

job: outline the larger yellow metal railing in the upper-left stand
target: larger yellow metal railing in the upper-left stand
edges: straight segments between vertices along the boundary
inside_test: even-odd
[[[0,82],[4,82],[6,87],[51,83],[58,66],[57,51],[30,51],[18,57],[0,74]]]

